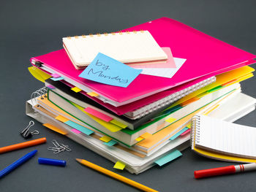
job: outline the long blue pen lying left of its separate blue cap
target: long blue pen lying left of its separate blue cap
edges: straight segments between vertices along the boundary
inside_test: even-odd
[[[4,177],[8,173],[12,172],[12,170],[16,169],[18,166],[24,164],[26,161],[28,161],[30,158],[32,158],[37,153],[37,150],[33,150],[29,152],[28,154],[24,155],[22,158],[19,158],[14,163],[10,164],[10,166],[7,166],[7,168],[1,170],[0,172],[0,179],[1,177]]]

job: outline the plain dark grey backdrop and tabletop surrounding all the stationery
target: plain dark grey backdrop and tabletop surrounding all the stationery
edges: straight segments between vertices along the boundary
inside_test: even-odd
[[[256,53],[256,1],[0,1],[0,146],[23,142],[19,131],[31,118],[25,101],[42,87],[27,67],[29,58],[62,48],[61,37],[118,31],[161,17],[186,23],[213,37]],[[256,97],[256,79],[242,82],[244,93]],[[237,123],[256,126],[252,112]],[[0,169],[31,150],[37,156],[0,180],[0,191],[136,191],[75,162],[85,158],[113,170],[113,163],[35,122],[48,143],[0,155]],[[34,137],[35,138],[39,138]],[[57,139],[72,152],[47,150]],[[59,158],[67,167],[37,164],[38,157]],[[159,191],[255,191],[255,172],[195,180],[194,170],[230,163],[203,158],[187,149],[176,161],[139,175],[119,172]],[[113,170],[114,172],[118,172]]]

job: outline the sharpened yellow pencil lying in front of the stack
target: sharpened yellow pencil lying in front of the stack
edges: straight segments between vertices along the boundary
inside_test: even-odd
[[[120,174],[116,174],[114,172],[111,172],[108,169],[104,169],[103,167],[97,166],[96,164],[92,164],[91,162],[86,161],[84,159],[76,158],[76,161],[78,161],[80,164],[83,164],[85,166],[89,166],[91,169],[94,169],[94,170],[96,170],[98,172],[101,172],[103,174],[107,174],[108,176],[113,177],[116,180],[120,180],[120,181],[122,181],[124,183],[127,183],[128,185],[132,185],[135,188],[139,188],[142,191],[155,191],[152,188],[148,188],[145,185],[141,185],[140,183],[137,183],[137,182],[135,182],[133,180],[129,180],[127,177],[123,177]]]

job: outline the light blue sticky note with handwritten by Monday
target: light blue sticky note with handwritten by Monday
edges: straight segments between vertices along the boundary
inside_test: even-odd
[[[140,72],[142,72],[142,69],[133,69],[126,64],[116,61],[116,59],[98,53],[94,61],[86,67],[79,77],[102,82],[107,85],[127,88]]]

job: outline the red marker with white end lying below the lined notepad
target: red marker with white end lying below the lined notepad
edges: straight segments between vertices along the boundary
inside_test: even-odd
[[[194,175],[196,179],[200,179],[203,177],[214,177],[217,175],[222,175],[222,174],[233,174],[237,172],[248,172],[256,170],[256,164],[241,164],[241,165],[231,165],[231,166],[224,166],[224,167],[219,167],[219,168],[214,168],[214,169],[204,169],[200,171],[195,171]]]

